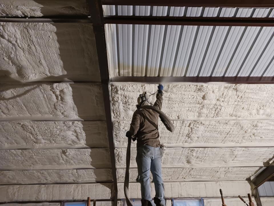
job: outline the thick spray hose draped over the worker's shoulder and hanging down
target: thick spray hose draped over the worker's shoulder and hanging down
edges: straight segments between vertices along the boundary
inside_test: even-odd
[[[174,132],[174,125],[171,122],[171,120],[166,116],[164,112],[161,110],[158,110],[154,106],[141,106],[141,109],[151,109],[159,114],[160,120],[163,122],[163,124],[166,126],[168,131]],[[130,147],[131,147],[131,138],[128,138],[128,147],[126,148],[126,174],[125,174],[125,182],[124,182],[124,193],[126,197],[126,204],[128,206],[133,206],[130,202],[129,195],[128,195],[128,186],[129,186],[129,165],[130,165]]]

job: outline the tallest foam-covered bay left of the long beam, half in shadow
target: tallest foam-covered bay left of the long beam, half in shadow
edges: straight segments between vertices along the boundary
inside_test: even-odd
[[[0,79],[100,81],[91,24],[0,23]]]

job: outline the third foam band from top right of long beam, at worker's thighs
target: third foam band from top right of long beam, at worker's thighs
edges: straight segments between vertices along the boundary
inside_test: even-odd
[[[162,167],[262,167],[273,155],[272,147],[167,148]],[[132,148],[130,167],[137,168],[135,158]],[[117,167],[125,168],[125,163],[126,148],[116,148]]]

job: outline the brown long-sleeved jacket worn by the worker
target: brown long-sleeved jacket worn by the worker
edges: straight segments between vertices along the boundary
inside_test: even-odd
[[[154,107],[162,109],[162,94],[156,94]],[[159,131],[158,131],[159,114],[150,109],[137,109],[130,124],[130,134],[132,138],[137,137],[137,147],[149,145],[152,147],[160,146]]]

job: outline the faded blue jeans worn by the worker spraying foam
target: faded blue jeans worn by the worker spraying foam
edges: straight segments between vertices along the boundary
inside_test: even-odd
[[[151,198],[150,171],[153,176],[155,197],[160,200],[160,205],[165,206],[164,183],[162,180],[160,147],[140,146],[137,148],[136,163],[138,167],[139,182],[141,183],[142,199],[155,205]]]

